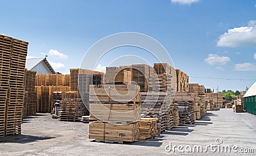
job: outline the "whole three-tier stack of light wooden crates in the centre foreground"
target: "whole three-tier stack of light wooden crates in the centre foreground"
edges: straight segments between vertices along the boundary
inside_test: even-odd
[[[126,96],[124,96],[126,95]],[[135,141],[140,137],[140,87],[90,85],[89,138],[96,141]]]

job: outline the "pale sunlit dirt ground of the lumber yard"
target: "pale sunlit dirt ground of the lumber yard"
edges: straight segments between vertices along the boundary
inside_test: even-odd
[[[118,144],[88,139],[88,124],[60,122],[39,113],[24,120],[22,135],[0,138],[0,155],[255,155],[255,119],[232,109],[208,111],[193,125],[175,127],[154,139]],[[202,152],[196,150],[198,146]],[[223,146],[229,146],[230,152]]]

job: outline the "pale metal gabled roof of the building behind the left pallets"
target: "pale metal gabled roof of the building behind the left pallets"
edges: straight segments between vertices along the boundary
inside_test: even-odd
[[[49,67],[52,74],[55,74],[54,69],[52,68],[51,64],[48,62],[48,60],[45,58],[33,58],[33,59],[26,59],[26,68],[28,70],[33,69],[36,65],[38,65],[40,62],[44,61],[46,66]]]

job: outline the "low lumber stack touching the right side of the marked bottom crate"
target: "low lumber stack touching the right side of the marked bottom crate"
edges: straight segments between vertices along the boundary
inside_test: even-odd
[[[141,118],[138,120],[140,139],[154,138],[157,136],[157,118]]]

